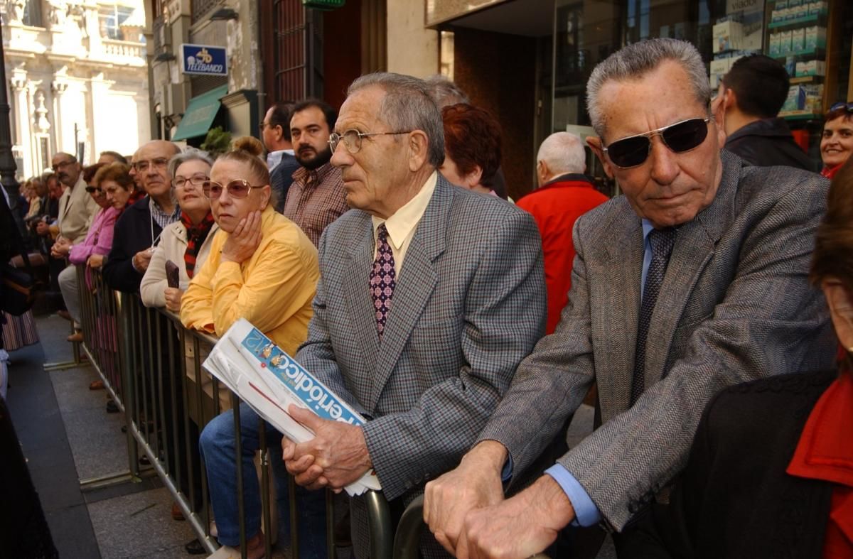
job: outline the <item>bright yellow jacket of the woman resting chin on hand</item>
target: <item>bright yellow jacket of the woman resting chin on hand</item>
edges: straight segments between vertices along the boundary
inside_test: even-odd
[[[228,233],[219,230],[210,256],[181,299],[183,326],[222,336],[246,319],[288,354],[308,337],[311,300],[320,268],[305,233],[267,206],[261,215],[261,242],[247,261],[221,262]]]

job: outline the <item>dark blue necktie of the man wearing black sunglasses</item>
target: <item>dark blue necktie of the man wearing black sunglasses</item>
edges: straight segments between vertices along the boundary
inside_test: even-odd
[[[634,382],[631,384],[631,406],[646,388],[646,347],[648,325],[652,321],[654,305],[658,303],[660,285],[664,283],[666,266],[670,262],[672,246],[676,244],[676,229],[653,229],[648,233],[652,245],[652,262],[648,265],[646,285],[643,287],[640,320],[637,324],[637,345],[634,353]]]

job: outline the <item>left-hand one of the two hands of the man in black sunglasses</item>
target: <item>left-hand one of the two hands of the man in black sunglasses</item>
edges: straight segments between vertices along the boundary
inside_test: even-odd
[[[484,452],[490,452],[490,456]],[[450,554],[456,554],[467,514],[503,500],[499,464],[505,461],[506,450],[500,443],[484,441],[462,458],[456,470],[427,483],[424,522]]]

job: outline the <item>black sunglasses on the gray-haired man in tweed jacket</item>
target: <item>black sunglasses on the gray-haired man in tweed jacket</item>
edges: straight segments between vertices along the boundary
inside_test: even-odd
[[[659,135],[666,147],[675,153],[689,152],[708,136],[711,118],[688,118],[643,134],[631,135],[614,141],[604,151],[620,169],[630,169],[643,164],[652,151],[652,137]]]

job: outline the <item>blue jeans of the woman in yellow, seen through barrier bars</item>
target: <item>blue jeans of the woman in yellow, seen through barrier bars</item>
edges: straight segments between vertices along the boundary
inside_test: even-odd
[[[199,439],[201,458],[207,470],[207,487],[210,489],[213,514],[222,545],[240,545],[240,517],[237,507],[237,466],[235,463],[234,411],[223,412],[205,426]],[[243,499],[246,513],[246,539],[252,538],[261,528],[261,501],[258,475],[252,462],[260,448],[258,414],[246,404],[240,405],[240,428],[243,444]],[[288,505],[287,470],[281,459],[281,433],[266,423],[267,447],[270,463],[276,478],[276,500],[279,505],[279,531],[282,539],[289,541],[290,507]],[[296,488],[296,508],[299,511],[299,556],[322,559],[327,556],[326,546],[326,494]]]

